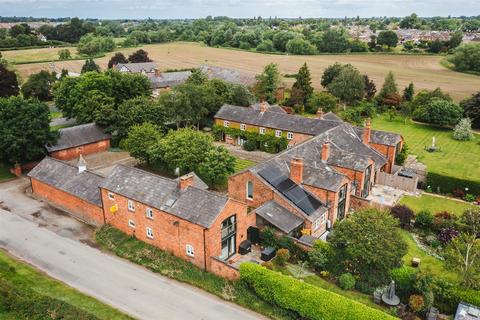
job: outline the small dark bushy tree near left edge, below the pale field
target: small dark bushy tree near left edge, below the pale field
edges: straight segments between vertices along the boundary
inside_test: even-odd
[[[40,101],[52,100],[52,86],[56,80],[55,73],[42,70],[28,77],[21,92],[25,98],[35,97]]]

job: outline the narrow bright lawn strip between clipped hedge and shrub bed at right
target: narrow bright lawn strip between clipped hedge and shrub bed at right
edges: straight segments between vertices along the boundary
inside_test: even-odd
[[[406,205],[415,212],[428,210],[432,214],[448,211],[456,215],[461,215],[468,208],[474,207],[465,202],[439,198],[428,194],[423,194],[421,197],[403,196],[399,203]]]

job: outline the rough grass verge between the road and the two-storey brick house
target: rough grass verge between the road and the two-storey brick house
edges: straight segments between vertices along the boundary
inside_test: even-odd
[[[242,281],[229,281],[205,272],[190,262],[130,237],[111,226],[102,227],[96,233],[95,239],[102,248],[153,272],[188,283],[272,319],[295,319],[291,312],[259,298]]]

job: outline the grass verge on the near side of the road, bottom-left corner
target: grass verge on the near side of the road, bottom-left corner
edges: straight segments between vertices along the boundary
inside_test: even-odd
[[[1,250],[0,278],[12,284],[18,292],[33,290],[42,296],[65,301],[78,309],[93,314],[99,319],[132,319],[120,311],[40,273]],[[50,318],[49,315],[45,315],[45,319],[47,318]],[[15,315],[10,313],[2,315],[0,310],[0,319],[18,319],[18,317],[16,318]]]

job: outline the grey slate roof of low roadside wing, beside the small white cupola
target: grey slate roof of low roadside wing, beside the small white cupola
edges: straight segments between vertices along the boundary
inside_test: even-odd
[[[102,206],[99,185],[104,178],[88,170],[79,173],[77,167],[45,157],[28,176],[96,206]]]

